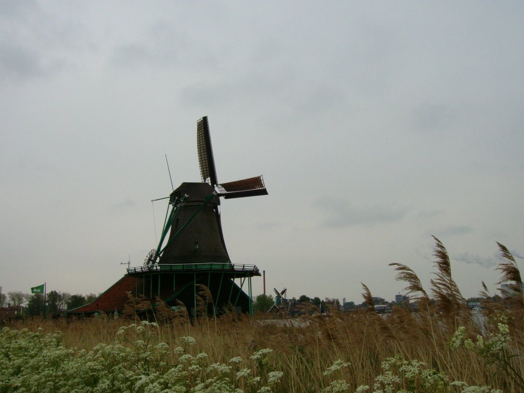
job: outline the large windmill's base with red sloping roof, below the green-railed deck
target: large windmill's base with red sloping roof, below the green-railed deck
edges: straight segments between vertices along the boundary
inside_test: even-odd
[[[221,315],[227,311],[253,315],[254,265],[176,264],[141,266],[127,274],[91,303],[69,310],[68,315],[122,313],[129,294],[143,296],[155,305],[157,299],[169,307],[185,307],[192,317]],[[247,288],[246,288],[247,287]],[[248,293],[244,292],[244,288]]]

